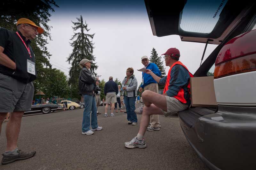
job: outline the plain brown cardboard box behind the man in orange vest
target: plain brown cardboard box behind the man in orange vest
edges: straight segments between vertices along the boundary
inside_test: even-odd
[[[217,107],[213,76],[191,77],[191,106],[193,107]]]

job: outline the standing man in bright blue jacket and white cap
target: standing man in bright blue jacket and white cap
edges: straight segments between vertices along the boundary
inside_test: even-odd
[[[144,65],[146,69],[151,70],[158,77],[161,76],[161,71],[159,70],[157,65],[155,63],[150,63],[147,56],[141,57],[141,63]],[[142,92],[142,89],[158,93],[157,82],[153,79],[153,77],[150,74],[145,74],[144,72],[142,72],[142,85],[140,86],[139,91]],[[136,111],[137,110],[135,110],[135,113]],[[159,115],[151,115],[149,124],[150,125],[148,125],[147,131],[159,131]]]

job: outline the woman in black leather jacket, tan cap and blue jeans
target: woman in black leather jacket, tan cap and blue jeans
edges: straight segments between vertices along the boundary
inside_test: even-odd
[[[97,78],[92,77],[90,73],[91,62],[88,59],[83,59],[79,63],[82,68],[79,74],[79,94],[84,97],[83,135],[92,135],[93,131],[102,130],[102,127],[98,126],[97,107],[93,91]],[[90,126],[92,126],[92,130]]]

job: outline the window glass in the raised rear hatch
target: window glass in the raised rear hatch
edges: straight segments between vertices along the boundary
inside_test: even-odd
[[[180,14],[180,28],[187,32],[211,33],[228,0],[188,0]]]

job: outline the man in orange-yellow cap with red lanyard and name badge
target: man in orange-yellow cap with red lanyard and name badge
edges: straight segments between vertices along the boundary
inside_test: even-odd
[[[35,56],[31,40],[44,32],[27,18],[17,21],[17,32],[0,28],[0,133],[7,112],[11,112],[6,125],[7,146],[2,164],[28,159],[36,154],[18,150],[21,118],[31,110],[36,79]]]

